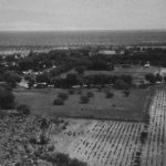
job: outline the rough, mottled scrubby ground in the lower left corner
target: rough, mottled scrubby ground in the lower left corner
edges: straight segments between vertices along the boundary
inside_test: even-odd
[[[55,152],[48,138],[53,123],[45,117],[0,110],[0,166],[86,166]],[[59,126],[59,121],[55,123]]]

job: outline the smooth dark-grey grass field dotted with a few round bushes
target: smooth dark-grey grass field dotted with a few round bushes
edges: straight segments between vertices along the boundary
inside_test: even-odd
[[[97,92],[96,89],[82,90],[82,94],[87,92],[94,93],[94,97],[91,97],[87,104],[81,104],[81,94],[75,92],[74,95],[69,94],[64,105],[53,105],[58,93],[62,91],[64,92],[65,90],[17,90],[14,95],[19,104],[31,106],[31,112],[35,114],[61,117],[142,121],[146,96],[149,93],[148,90],[129,90],[129,96],[125,97],[122,91],[111,90],[114,92],[114,97],[106,98],[104,90],[102,92]]]

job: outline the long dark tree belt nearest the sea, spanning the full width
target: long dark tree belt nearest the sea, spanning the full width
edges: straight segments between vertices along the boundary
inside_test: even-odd
[[[60,73],[61,70],[65,72],[73,66],[85,66],[89,70],[113,70],[113,64],[145,64],[147,61],[153,65],[166,66],[166,49],[123,48],[123,54],[120,54],[117,49],[116,54],[108,56],[100,54],[100,49],[103,48],[84,46],[69,50],[52,50],[49,53],[31,51],[25,58],[21,58],[20,54],[17,54],[15,58],[15,54],[13,54],[6,56],[4,61],[8,63],[8,68],[18,71],[41,71],[51,69],[54,65],[56,66],[54,73],[56,73],[55,71]],[[3,61],[1,56],[0,61]],[[15,62],[17,65],[12,65],[13,62]]]

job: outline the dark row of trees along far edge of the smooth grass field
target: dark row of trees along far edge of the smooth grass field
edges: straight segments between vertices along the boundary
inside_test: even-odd
[[[75,73],[70,73],[65,79],[54,79],[53,82],[55,87],[72,87],[74,85],[83,86],[84,84],[87,87],[95,85],[105,86],[107,84],[113,84],[116,89],[128,89],[133,83],[133,77],[131,75],[107,75],[107,74],[94,74],[80,76]]]

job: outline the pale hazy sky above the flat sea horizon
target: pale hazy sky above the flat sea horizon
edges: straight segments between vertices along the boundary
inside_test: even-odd
[[[0,30],[166,29],[166,0],[0,0]]]

